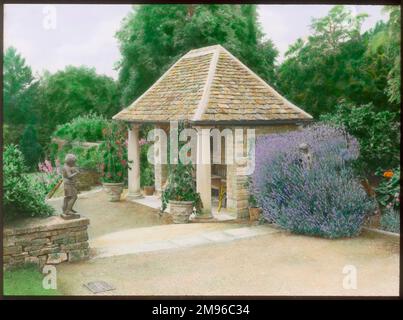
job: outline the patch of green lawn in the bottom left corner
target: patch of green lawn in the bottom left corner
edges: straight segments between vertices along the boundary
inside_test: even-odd
[[[54,289],[42,286],[44,275],[36,266],[7,270],[4,272],[3,288],[5,296],[55,296],[61,295]]]

